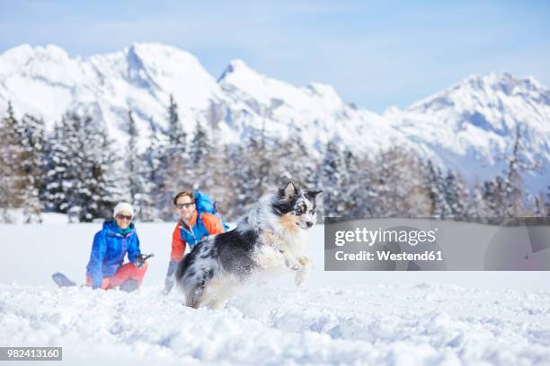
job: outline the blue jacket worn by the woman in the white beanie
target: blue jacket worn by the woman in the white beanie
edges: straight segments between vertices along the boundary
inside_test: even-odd
[[[136,228],[131,222],[129,233],[123,235],[114,220],[103,222],[102,231],[93,237],[92,254],[86,266],[86,274],[92,277],[92,287],[102,286],[103,277],[111,277],[117,272],[128,253],[131,263],[141,254]]]

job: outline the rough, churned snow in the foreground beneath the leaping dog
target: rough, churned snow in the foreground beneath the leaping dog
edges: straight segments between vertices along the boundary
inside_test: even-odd
[[[0,299],[2,339],[63,346],[68,364],[550,362],[550,292],[253,285],[196,310],[150,288],[2,284]]]

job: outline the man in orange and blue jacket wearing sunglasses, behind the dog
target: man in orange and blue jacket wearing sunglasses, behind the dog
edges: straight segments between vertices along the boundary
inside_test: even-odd
[[[199,213],[197,211],[195,196],[191,192],[179,192],[173,197],[173,205],[175,212],[180,216],[180,220],[178,220],[173,230],[172,253],[170,254],[170,263],[164,281],[164,293],[172,290],[173,273],[185,255],[185,249],[189,248],[191,251],[193,246],[200,240],[226,231],[224,223],[216,214]]]

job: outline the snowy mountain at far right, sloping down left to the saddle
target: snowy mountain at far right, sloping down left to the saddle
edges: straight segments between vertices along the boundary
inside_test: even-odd
[[[528,148],[525,158],[543,168],[550,161],[550,91],[532,78],[501,73],[470,76],[408,109],[390,109],[384,117],[470,179],[503,169],[518,125]],[[528,178],[531,188],[537,186],[536,179],[543,187],[548,184],[548,171],[536,176]]]

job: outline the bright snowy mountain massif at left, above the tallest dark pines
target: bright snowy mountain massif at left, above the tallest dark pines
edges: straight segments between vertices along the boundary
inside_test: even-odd
[[[67,109],[81,110],[102,120],[110,135],[122,141],[129,109],[145,142],[150,118],[165,126],[170,93],[184,121],[196,118],[208,110],[211,100],[222,96],[196,57],[155,44],[86,58],[70,58],[52,45],[22,45],[0,57],[0,73],[0,108],[12,100],[16,114],[40,116],[49,127]]]

